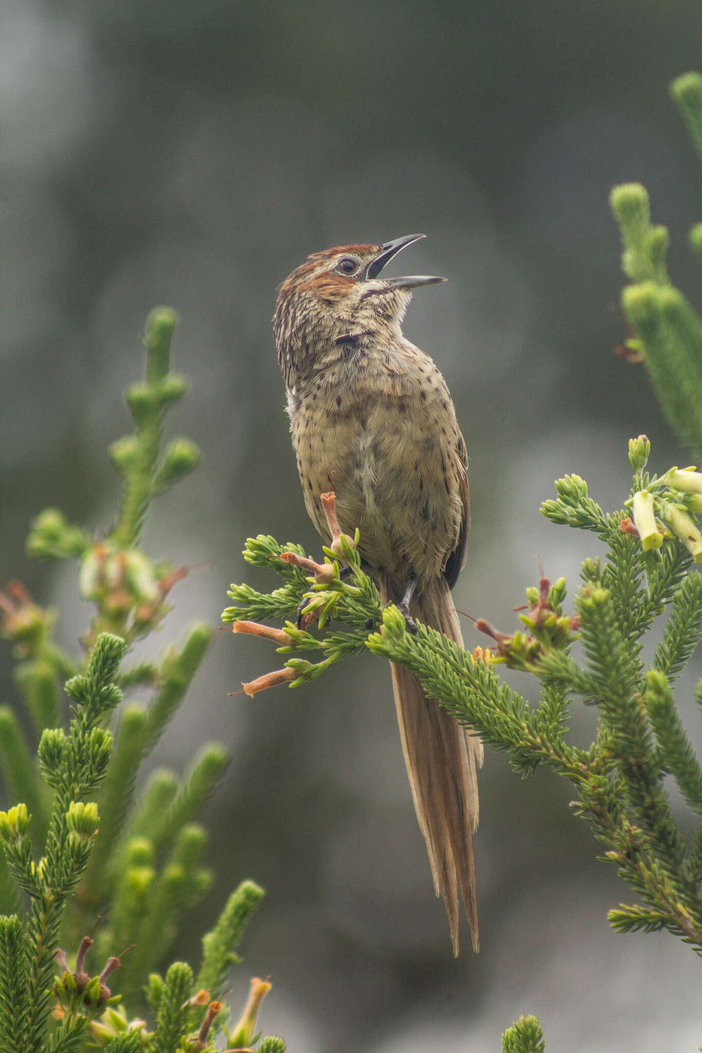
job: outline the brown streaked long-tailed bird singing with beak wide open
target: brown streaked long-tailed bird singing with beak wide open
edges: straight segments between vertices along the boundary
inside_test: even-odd
[[[336,492],[342,530],[360,530],[363,564],[383,602],[462,645],[450,597],[465,562],[467,456],[446,383],[402,335],[413,290],[444,281],[383,278],[422,234],[314,253],[280,286],[274,333],[307,512],[325,540],[320,495]],[[458,897],[474,950],[478,913],[472,833],[478,827],[480,738],[460,728],[401,665],[393,689],[409,784],[458,954]]]

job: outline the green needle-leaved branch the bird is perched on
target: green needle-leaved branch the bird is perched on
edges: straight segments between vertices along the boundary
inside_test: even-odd
[[[649,478],[643,474],[649,443],[640,437],[633,440],[633,449],[635,474],[627,502],[644,489],[656,494],[661,522],[670,503],[682,502],[693,517],[693,508],[685,504],[689,493],[678,489],[680,473],[670,470],[660,480]],[[687,473],[693,475],[697,473]],[[556,500],[544,503],[545,515],[560,524],[595,531],[607,543],[604,562],[583,563],[583,583],[570,618],[562,611],[565,582],[550,585],[542,578],[539,588],[527,590],[528,610],[520,615],[517,631],[499,632],[478,619],[477,628],[490,637],[485,652],[477,649],[470,655],[422,624],[409,633],[397,608],[381,608],[355,545],[346,549],[344,560],[349,575],[340,573],[330,550],[326,562],[319,564],[300,557],[296,549],[295,559],[312,573],[306,581],[288,577],[285,607],[279,609],[279,617],[292,603],[303,612],[320,611],[346,623],[348,631],[327,625],[320,638],[289,621],[282,630],[252,624],[246,619],[263,604],[240,587],[233,587],[229,595],[250,605],[227,608],[224,618],[238,632],[268,637],[282,654],[321,649],[340,660],[358,654],[363,640],[373,654],[412,670],[427,694],[459,722],[506,751],[517,773],[526,776],[545,766],[567,778],[579,795],[576,813],[589,821],[606,846],[606,858],[617,863],[621,877],[642,899],[641,906],[613,912],[613,926],[619,931],[666,928],[701,953],[702,870],[675,820],[663,777],[669,773],[699,812],[702,769],[670,686],[700,639],[702,579],[691,568],[688,539],[681,541],[661,526],[661,545],[646,550],[626,510],[603,512],[578,476],[558,480],[556,492]],[[258,561],[266,553],[269,564],[280,570],[281,557],[292,550],[272,538],[258,538],[247,541],[246,555]],[[644,636],[668,608],[663,639],[653,668],[646,670]],[[573,653],[576,639],[580,661]],[[500,681],[501,662],[536,677],[541,687],[536,706]],[[285,681],[296,687],[319,675],[320,664],[326,662],[314,667],[288,658],[282,670],[245,688],[253,692]],[[282,676],[288,670],[289,675]],[[576,697],[599,710],[598,734],[587,750],[566,740],[568,709]],[[702,828],[695,843],[702,846]]]

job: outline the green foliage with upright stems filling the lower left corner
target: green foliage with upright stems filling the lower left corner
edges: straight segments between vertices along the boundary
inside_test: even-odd
[[[126,393],[136,431],[111,450],[123,478],[113,529],[94,538],[49,509],[27,541],[33,555],[80,561],[82,595],[95,604],[83,656],[57,647],[56,612],[21,584],[0,596],[0,635],[14,644],[16,682],[39,738],[34,757],[16,714],[0,707],[0,774],[6,794],[20,800],[0,812],[0,1045],[8,1053],[82,1053],[96,1045],[113,1053],[214,1049],[228,1012],[217,997],[263,896],[253,881],[242,882],[203,936],[197,995],[188,965],[175,962],[165,979],[153,972],[182,912],[210,885],[207,836],[194,820],[228,762],[222,746],[205,744],[182,778],[154,772],[135,798],[140,766],[213,637],[209,625],[195,625],[160,662],[121,668],[129,644],[158,628],[166,597],[186,573],[138,548],[151,500],[199,460],[187,439],[160,454],[166,410],[187,386],[169,372],[174,326],[167,309],[146,323],[145,379]],[[67,727],[60,724],[61,687]],[[135,688],[151,697],[120,706]],[[106,921],[94,940],[84,933],[96,930],[100,915]],[[94,972],[89,952],[100,962]],[[153,1031],[137,1015],[144,984]]]

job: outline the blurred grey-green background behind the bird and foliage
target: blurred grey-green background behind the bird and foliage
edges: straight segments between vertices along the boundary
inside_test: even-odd
[[[0,573],[57,603],[77,645],[89,610],[76,567],[28,560],[23,540],[47,504],[109,522],[106,448],[127,430],[120,392],[157,303],[181,314],[175,365],[193,379],[172,426],[204,463],[155,508],[145,544],[204,565],[149,647],[217,622],[229,581],[272,584],[243,564],[247,535],[317,550],[282,412],[276,286],[308,252],[418,230],[427,239],[388,273],[449,279],[420,292],[405,332],[444,373],[470,455],[457,605],[508,628],[537,555],[575,585],[597,544],[540,516],[553,480],[576,471],[619,506],[641,431],[655,469],[686,462],[641,367],[613,352],[607,193],[647,184],[694,297],[701,184],[667,84],[699,66],[701,33],[683,0],[4,0]],[[480,642],[467,621],[465,636]],[[595,860],[566,786],[520,781],[488,753],[482,951],[464,939],[454,961],[387,669],[368,657],[296,692],[227,697],[270,661],[260,641],[219,636],[156,758],[181,768],[207,738],[233,751],[206,814],[218,879],[178,948],[197,955],[240,878],[264,885],[232,1001],[269,973],[262,1025],[292,1053],[497,1049],[527,1012],[553,1053],[696,1048],[695,959],[671,936],[607,929],[628,892]],[[691,706],[689,720],[699,739]],[[575,738],[591,726],[576,710]]]

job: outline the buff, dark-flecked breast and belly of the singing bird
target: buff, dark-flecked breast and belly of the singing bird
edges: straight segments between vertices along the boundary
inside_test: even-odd
[[[442,397],[445,395],[445,398]],[[304,400],[293,440],[305,504],[320,534],[328,530],[320,494],[334,490],[342,529],[358,526],[364,560],[385,571],[398,590],[408,573],[441,574],[459,541],[465,514],[458,454],[460,435],[445,388],[373,398]]]

